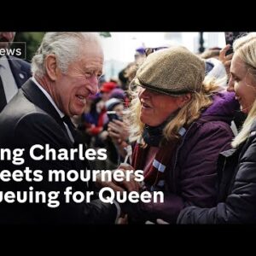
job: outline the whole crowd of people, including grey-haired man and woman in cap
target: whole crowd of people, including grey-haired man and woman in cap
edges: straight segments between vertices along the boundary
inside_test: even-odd
[[[0,48],[14,37],[0,32]],[[96,196],[90,203],[66,203],[61,197],[57,209],[3,202],[0,223],[255,223],[256,33],[237,38],[227,55],[230,47],[201,55],[183,46],[138,48],[135,61],[109,81],[93,32],[45,33],[31,64],[1,57],[0,145],[26,149],[20,170],[38,168],[28,155],[34,144],[106,148],[104,161],[42,160],[40,169],[44,175],[49,169],[143,170],[143,183],[134,176],[122,182],[99,176],[96,183],[72,185],[84,193],[103,187],[163,191],[165,200],[109,204]],[[1,165],[17,169],[9,160]],[[9,182],[1,190],[31,185],[64,192],[70,184]]]

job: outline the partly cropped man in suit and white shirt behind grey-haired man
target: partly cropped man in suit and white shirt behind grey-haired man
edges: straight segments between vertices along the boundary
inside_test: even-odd
[[[0,32],[0,49],[8,49],[14,38],[15,32]],[[15,56],[0,55],[0,113],[30,77],[30,63]]]

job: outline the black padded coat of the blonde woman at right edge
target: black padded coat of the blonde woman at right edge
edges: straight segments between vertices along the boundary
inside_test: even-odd
[[[220,155],[218,177],[217,207],[186,207],[178,224],[256,223],[256,121],[245,143]]]

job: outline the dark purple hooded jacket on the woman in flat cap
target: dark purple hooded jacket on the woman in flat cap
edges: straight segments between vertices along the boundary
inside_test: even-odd
[[[230,122],[238,103],[233,93],[218,94],[200,119],[189,125],[175,157],[166,167],[164,203],[124,205],[131,216],[143,220],[163,218],[176,223],[183,207],[213,207],[217,202],[218,154],[230,148],[233,133]]]

